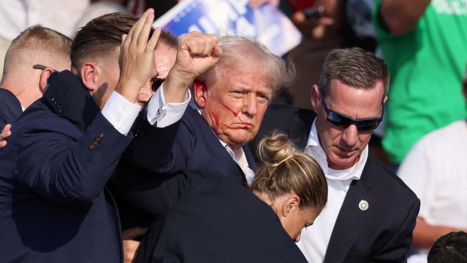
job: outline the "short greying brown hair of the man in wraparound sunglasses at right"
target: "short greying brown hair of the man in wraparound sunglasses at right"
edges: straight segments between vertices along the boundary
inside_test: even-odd
[[[327,96],[333,79],[340,79],[356,89],[371,89],[383,82],[384,96],[388,93],[389,69],[386,62],[361,48],[335,49],[326,56],[319,87]]]

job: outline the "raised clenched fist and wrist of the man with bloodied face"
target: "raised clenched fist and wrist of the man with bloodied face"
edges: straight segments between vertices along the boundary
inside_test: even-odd
[[[183,102],[186,91],[195,78],[214,66],[222,55],[217,37],[191,32],[179,40],[177,59],[165,79],[165,103]]]

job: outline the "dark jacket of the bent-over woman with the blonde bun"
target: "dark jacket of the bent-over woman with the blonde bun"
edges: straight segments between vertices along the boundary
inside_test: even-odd
[[[158,218],[136,262],[306,262],[272,209],[231,178],[200,167],[159,180],[126,187]]]

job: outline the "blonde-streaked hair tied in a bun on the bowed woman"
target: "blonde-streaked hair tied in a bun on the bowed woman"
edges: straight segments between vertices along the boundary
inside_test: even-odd
[[[257,154],[264,164],[254,176],[252,191],[267,194],[271,202],[294,192],[300,197],[300,207],[324,207],[327,182],[323,170],[315,159],[296,150],[287,135],[263,138]]]

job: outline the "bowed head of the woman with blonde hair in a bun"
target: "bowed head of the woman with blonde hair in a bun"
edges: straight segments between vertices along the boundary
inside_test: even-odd
[[[295,241],[304,227],[313,225],[327,201],[327,183],[319,164],[296,150],[287,136],[274,134],[258,144],[264,163],[251,184],[252,192],[266,202]]]

